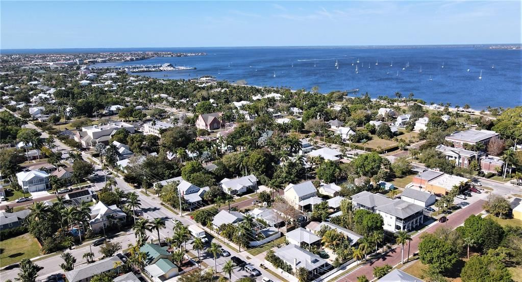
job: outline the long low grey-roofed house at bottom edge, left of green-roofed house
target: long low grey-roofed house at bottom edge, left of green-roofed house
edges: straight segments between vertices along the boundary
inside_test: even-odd
[[[94,275],[106,272],[118,273],[120,266],[114,267],[115,264],[123,264],[123,262],[117,256],[112,256],[101,261],[76,266],[72,271],[65,272],[65,277],[69,282],[88,282]]]

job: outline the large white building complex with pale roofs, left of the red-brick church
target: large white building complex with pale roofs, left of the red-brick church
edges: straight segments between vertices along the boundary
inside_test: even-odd
[[[123,121],[110,122],[104,125],[92,125],[82,127],[76,133],[75,140],[81,142],[83,146],[94,146],[97,143],[109,144],[112,134],[118,129],[125,129],[129,133],[134,133],[134,126]]]

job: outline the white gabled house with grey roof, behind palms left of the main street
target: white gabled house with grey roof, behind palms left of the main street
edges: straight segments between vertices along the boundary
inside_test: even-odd
[[[90,207],[91,219],[89,224],[94,232],[109,227],[114,223],[125,222],[127,215],[116,205],[105,205],[99,201],[96,205]]]

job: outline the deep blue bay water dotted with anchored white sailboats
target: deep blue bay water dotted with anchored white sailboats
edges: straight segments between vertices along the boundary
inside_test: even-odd
[[[474,109],[522,105],[520,50],[468,46],[200,47],[162,48],[161,51],[206,52],[207,55],[157,57],[138,62],[104,63],[96,66],[171,63],[197,69],[137,74],[169,79],[211,75],[230,82],[245,80],[249,85],[284,86],[294,90],[310,90],[317,85],[322,93],[357,88],[361,93],[368,92],[372,97],[394,96],[395,92],[407,96],[412,92],[415,97],[426,102],[451,103],[452,106],[461,107],[469,104]],[[357,59],[359,64],[356,63]],[[339,64],[338,69],[335,67],[336,61]],[[393,66],[390,66],[392,61]],[[410,67],[403,70],[408,63]],[[359,73],[355,73],[357,65]],[[479,80],[481,70],[482,79]],[[430,76],[432,81],[429,80]]]

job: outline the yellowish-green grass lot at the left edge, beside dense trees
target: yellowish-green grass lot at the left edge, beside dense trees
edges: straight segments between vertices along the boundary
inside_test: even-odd
[[[29,234],[2,241],[0,267],[17,263],[40,255],[38,241]]]

